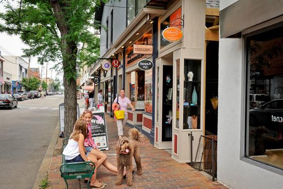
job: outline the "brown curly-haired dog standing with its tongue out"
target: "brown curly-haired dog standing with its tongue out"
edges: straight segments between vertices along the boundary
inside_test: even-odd
[[[143,169],[141,168],[140,162],[140,152],[138,141],[143,135],[137,129],[129,130],[129,138],[121,137],[116,145],[116,153],[117,153],[117,182],[116,185],[121,185],[123,182],[123,172],[124,167],[126,167],[126,184],[127,186],[133,185],[133,164],[132,157],[134,157],[134,161],[136,164],[137,175],[143,174]]]

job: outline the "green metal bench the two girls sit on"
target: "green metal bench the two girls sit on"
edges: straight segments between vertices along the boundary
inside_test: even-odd
[[[63,149],[66,147],[68,139],[63,140]],[[60,167],[61,177],[64,178],[67,189],[69,188],[67,180],[69,179],[78,179],[81,178],[91,178],[93,172],[95,171],[95,163],[93,162],[74,162],[68,163],[65,159],[65,156],[62,155],[62,165]],[[87,188],[89,189],[89,182],[87,182]],[[80,182],[79,182],[80,186]]]

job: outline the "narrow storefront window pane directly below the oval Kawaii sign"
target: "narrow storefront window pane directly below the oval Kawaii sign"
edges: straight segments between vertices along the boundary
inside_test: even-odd
[[[145,111],[152,114],[152,69],[145,71]]]

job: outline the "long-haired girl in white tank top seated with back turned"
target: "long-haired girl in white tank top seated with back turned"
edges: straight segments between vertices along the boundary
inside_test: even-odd
[[[103,182],[97,180],[98,161],[95,156],[85,154],[84,141],[87,138],[86,134],[86,121],[84,119],[78,119],[75,123],[73,133],[70,135],[67,146],[65,147],[63,154],[68,163],[70,162],[87,162],[91,161],[95,163],[96,168],[93,175],[90,178],[90,186],[97,188],[104,188]]]

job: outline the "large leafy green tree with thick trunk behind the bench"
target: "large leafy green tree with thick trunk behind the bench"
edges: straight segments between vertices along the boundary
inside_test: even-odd
[[[0,3],[4,3],[0,0]],[[5,1],[0,13],[0,32],[19,35],[28,46],[25,56],[38,62],[57,61],[63,68],[65,93],[65,135],[76,121],[76,72],[81,63],[93,63],[99,56],[95,11],[107,0],[18,0]],[[1,5],[2,6],[2,5]]]

